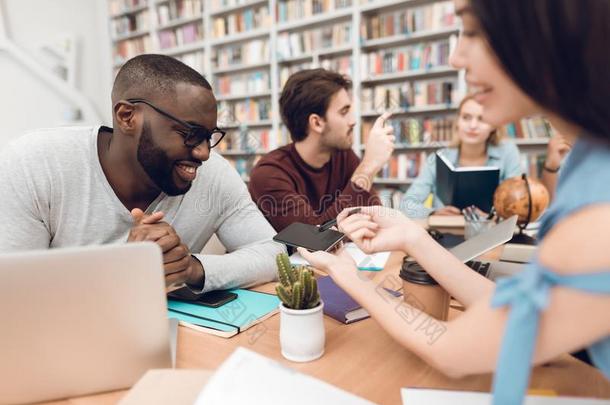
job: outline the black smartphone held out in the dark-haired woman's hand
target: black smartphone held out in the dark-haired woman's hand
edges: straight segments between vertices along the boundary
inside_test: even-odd
[[[328,251],[343,240],[345,234],[332,229],[320,232],[315,225],[294,222],[273,237],[288,246],[303,247],[309,251]]]

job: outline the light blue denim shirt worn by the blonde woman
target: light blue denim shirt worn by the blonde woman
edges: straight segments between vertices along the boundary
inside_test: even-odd
[[[445,148],[440,151],[454,166],[459,165],[458,148]],[[521,157],[517,146],[503,140],[498,145],[487,147],[486,166],[500,169],[500,182],[523,173]],[[433,194],[432,208],[424,207],[424,202]],[[436,194],[436,154],[431,153],[426,159],[417,179],[411,184],[400,202],[400,210],[410,218],[424,218],[432,211],[444,207],[443,202]]]

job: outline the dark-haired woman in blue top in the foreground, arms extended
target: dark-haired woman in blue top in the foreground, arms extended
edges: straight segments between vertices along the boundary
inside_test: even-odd
[[[544,114],[573,145],[533,262],[496,285],[397,211],[343,212],[339,229],[364,251],[409,254],[466,306],[429,345],[348,255],[301,254],[406,348],[448,375],[495,371],[494,404],[517,404],[531,366],[564,353],[587,349],[610,376],[610,1],[454,3],[463,31],[451,63],[465,69],[483,119],[500,126]]]

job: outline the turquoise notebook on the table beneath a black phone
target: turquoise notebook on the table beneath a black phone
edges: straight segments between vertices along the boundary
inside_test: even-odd
[[[272,294],[235,289],[237,299],[218,308],[168,300],[168,315],[181,325],[221,337],[235,336],[278,312],[280,300]]]

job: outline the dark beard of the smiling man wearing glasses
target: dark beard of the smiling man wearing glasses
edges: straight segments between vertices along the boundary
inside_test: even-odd
[[[191,183],[179,188],[173,179],[174,163],[167,154],[155,145],[150,126],[144,123],[142,135],[138,143],[138,162],[150,179],[169,196],[185,194],[191,188]]]

